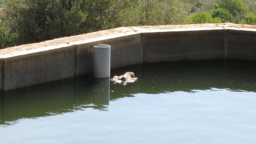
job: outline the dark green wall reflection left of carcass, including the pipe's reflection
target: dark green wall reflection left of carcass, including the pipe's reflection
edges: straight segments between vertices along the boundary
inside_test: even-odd
[[[0,99],[0,125],[21,118],[36,118],[78,109],[105,108],[109,104],[110,80],[77,77],[40,86],[7,91]]]

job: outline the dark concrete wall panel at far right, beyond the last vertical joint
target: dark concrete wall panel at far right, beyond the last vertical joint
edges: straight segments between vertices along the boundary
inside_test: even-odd
[[[256,61],[256,31],[228,31],[227,58]]]

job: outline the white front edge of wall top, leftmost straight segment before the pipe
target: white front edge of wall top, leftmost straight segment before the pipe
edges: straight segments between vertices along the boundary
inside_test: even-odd
[[[71,44],[59,44],[59,45],[51,45],[51,46],[47,46],[47,47],[40,47],[37,49],[29,49],[26,51],[17,51],[17,52],[13,52],[10,54],[4,54],[4,55],[0,55],[0,58],[9,58],[9,57],[14,57],[14,56],[21,56],[21,55],[26,55],[26,54],[32,54],[32,53],[36,53],[36,52],[41,52],[41,51],[48,51],[48,50],[52,50],[52,49],[60,49],[63,47],[70,47],[72,46]]]

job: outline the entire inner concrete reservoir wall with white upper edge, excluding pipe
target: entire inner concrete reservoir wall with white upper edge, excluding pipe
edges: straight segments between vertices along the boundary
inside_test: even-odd
[[[111,45],[111,68],[209,59],[256,61],[256,29],[141,29],[0,53],[1,91],[93,72],[93,46]]]

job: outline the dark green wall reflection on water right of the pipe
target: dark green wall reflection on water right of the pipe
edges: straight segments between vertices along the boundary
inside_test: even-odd
[[[123,72],[125,69],[129,68],[118,71]],[[111,91],[113,90],[111,99],[118,98],[122,93],[127,96],[136,93],[191,92],[211,88],[256,91],[255,62],[213,60],[145,63],[142,70],[139,70],[139,66],[137,69],[134,69],[138,77],[135,83],[127,86],[110,86]]]

